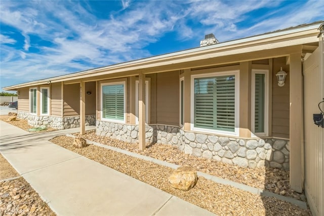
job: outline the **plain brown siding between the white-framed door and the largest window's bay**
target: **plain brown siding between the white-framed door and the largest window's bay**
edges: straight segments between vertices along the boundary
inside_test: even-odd
[[[179,125],[179,72],[157,74],[156,123]]]

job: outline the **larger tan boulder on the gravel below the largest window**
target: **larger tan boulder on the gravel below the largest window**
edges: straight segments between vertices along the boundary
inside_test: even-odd
[[[197,172],[189,166],[182,166],[174,170],[169,176],[173,188],[188,191],[197,183]]]

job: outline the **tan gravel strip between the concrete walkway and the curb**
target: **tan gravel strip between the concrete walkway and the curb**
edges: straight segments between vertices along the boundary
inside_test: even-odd
[[[93,133],[90,132],[87,135],[93,136]],[[309,210],[301,209],[290,203],[217,184],[204,177],[199,177],[197,185],[193,189],[189,191],[180,191],[172,188],[168,182],[168,176],[172,172],[172,169],[169,167],[157,165],[149,161],[137,159],[94,145],[89,145],[85,148],[75,148],[72,146],[73,138],[67,136],[58,136],[51,141],[63,148],[137,178],[144,183],[166,191],[190,203],[203,207],[217,215],[278,215],[278,213],[280,215],[311,215]],[[102,142],[102,140],[96,141]],[[114,141],[114,143],[119,142],[117,140]],[[135,145],[133,150],[135,152],[136,147]],[[149,149],[145,152],[149,151]],[[128,149],[128,151],[130,151],[130,149]],[[156,151],[163,151],[163,149],[157,149]],[[164,155],[160,157],[165,157],[169,160],[177,159],[173,158],[173,155],[168,155],[168,153],[165,152],[156,152],[155,154]],[[183,162],[185,162],[186,159],[187,158],[184,158]],[[192,165],[188,163],[185,164]]]

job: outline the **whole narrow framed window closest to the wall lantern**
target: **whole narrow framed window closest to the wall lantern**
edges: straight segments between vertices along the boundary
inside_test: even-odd
[[[252,70],[252,136],[268,135],[268,70]]]

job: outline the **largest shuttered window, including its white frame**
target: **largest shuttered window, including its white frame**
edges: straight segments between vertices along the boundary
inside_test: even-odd
[[[192,130],[238,135],[238,71],[192,78]]]

